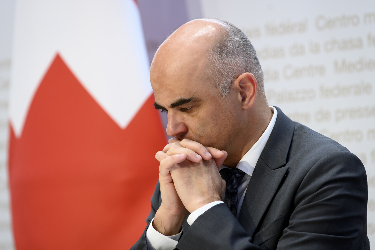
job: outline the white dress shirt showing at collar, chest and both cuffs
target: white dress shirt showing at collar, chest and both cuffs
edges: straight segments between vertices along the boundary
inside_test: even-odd
[[[236,168],[242,170],[245,172],[245,176],[242,178],[240,182],[240,186],[238,187],[238,197],[240,197],[238,201],[238,206],[237,206],[237,218],[240,214],[241,206],[243,203],[243,199],[245,198],[245,193],[246,190],[248,189],[248,185],[250,182],[251,175],[254,172],[255,165],[258,162],[258,159],[260,157],[260,154],[263,151],[264,146],[266,146],[266,143],[268,141],[268,138],[270,137],[270,134],[272,132],[273,126],[275,126],[276,122],[276,117],[278,115],[278,111],[273,107],[270,106],[273,115],[271,118],[270,123],[268,124],[266,130],[264,130],[263,134],[261,137],[258,139],[257,142],[250,148],[250,150],[242,157],[240,162],[237,164]],[[225,165],[222,165],[220,167],[220,170],[223,168],[228,168]],[[251,192],[251,191],[249,191]],[[198,218],[201,214],[203,214],[205,211],[210,209],[211,207],[223,203],[222,201],[214,201],[211,202],[207,205],[204,205],[201,208],[198,208],[197,210],[193,211],[187,217],[187,223],[191,226],[196,218]],[[172,250],[175,249],[178,240],[180,240],[181,235],[182,235],[182,229],[181,232],[177,235],[172,235],[172,236],[165,236],[163,234],[160,234],[157,232],[153,226],[152,222],[154,219],[151,220],[150,226],[148,227],[146,231],[146,240],[147,240],[147,247],[149,249],[154,249],[154,250]]]

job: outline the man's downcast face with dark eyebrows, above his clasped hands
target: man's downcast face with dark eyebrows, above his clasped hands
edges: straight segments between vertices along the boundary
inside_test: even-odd
[[[238,98],[235,91],[221,98],[205,76],[205,60],[197,58],[194,63],[151,67],[155,108],[168,113],[169,136],[226,150],[239,129]]]

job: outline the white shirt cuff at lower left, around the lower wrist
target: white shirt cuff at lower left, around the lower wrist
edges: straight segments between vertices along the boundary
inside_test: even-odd
[[[178,234],[165,236],[157,232],[152,226],[152,222],[154,221],[154,218],[151,220],[150,226],[148,226],[147,231],[146,231],[147,247],[149,249],[154,249],[154,250],[175,249],[178,241],[181,238],[183,227]]]

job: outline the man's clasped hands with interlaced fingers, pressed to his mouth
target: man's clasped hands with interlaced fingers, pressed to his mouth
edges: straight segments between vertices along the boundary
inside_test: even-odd
[[[221,201],[225,181],[219,168],[227,156],[225,151],[189,139],[169,139],[155,155],[160,162],[162,203],[153,220],[154,229],[163,235],[178,234],[188,212]]]

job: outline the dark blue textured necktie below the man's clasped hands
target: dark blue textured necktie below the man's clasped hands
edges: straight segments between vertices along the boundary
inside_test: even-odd
[[[220,170],[221,178],[226,183],[225,187],[225,196],[224,203],[232,212],[234,217],[237,217],[237,204],[238,204],[238,186],[242,178],[245,175],[245,172],[241,171],[238,168],[229,169],[223,168]]]

